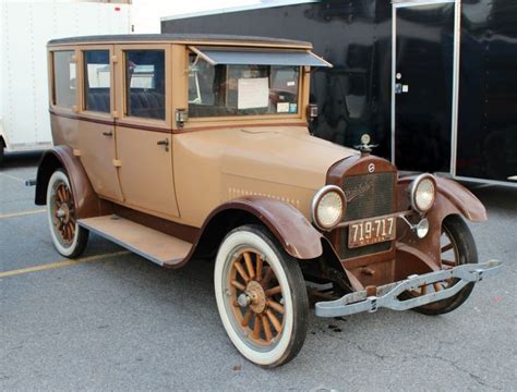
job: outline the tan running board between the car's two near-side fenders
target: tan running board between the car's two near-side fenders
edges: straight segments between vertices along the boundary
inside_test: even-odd
[[[81,226],[164,267],[180,264],[192,244],[116,215],[80,219]]]

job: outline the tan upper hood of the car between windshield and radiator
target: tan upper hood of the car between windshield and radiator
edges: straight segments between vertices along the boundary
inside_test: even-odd
[[[203,144],[212,146],[212,154],[218,149],[221,174],[310,189],[325,185],[330,166],[358,154],[314,137],[301,126],[227,128],[197,134]]]

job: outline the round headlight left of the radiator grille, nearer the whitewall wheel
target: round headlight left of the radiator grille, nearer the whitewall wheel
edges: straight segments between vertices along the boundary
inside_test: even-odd
[[[321,230],[332,230],[341,221],[345,209],[342,191],[335,185],[326,185],[312,199],[312,220]]]

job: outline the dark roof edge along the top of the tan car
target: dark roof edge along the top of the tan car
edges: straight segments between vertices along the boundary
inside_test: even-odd
[[[292,48],[312,49],[312,44],[301,40],[220,35],[220,34],[119,34],[98,35],[52,39],[48,46],[74,45],[74,44],[125,44],[125,42],[177,42],[177,44],[218,44],[218,45],[250,45],[250,46],[282,46]]]

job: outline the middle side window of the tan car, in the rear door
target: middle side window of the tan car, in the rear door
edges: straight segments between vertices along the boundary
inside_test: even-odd
[[[86,50],[84,56],[84,109],[109,113],[109,50]]]

